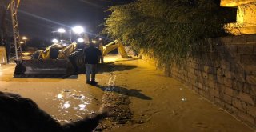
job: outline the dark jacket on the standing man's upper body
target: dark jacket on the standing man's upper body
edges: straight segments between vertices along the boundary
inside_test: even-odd
[[[85,49],[85,63],[86,64],[98,64],[99,56],[102,55],[102,52],[95,48],[94,46],[90,46]]]

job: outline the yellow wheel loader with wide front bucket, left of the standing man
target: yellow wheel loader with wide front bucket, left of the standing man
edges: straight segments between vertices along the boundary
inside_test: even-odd
[[[77,43],[54,43],[34,52],[30,60],[15,61],[14,78],[66,78],[84,70],[83,51]]]

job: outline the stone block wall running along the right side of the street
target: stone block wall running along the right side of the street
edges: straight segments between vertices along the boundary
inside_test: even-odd
[[[165,72],[256,128],[256,34],[208,39]]]

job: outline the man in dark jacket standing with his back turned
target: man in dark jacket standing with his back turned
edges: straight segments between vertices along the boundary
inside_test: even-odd
[[[96,68],[99,57],[102,56],[102,52],[94,46],[94,43],[89,43],[89,47],[84,50],[85,63],[86,63],[86,83],[96,85],[98,82],[95,81]],[[91,74],[91,78],[90,78]]]

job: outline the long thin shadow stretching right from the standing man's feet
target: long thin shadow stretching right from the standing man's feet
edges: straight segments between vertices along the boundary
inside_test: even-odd
[[[146,96],[145,94],[140,93],[141,90],[135,90],[135,89],[128,90],[121,86],[96,85],[96,87],[98,87],[99,89],[101,89],[103,91],[116,92],[118,94],[124,94],[124,95],[131,96],[131,97],[137,97],[137,98],[141,98],[141,99],[145,99],[145,100],[152,100],[152,98]]]

